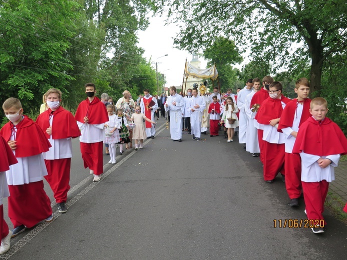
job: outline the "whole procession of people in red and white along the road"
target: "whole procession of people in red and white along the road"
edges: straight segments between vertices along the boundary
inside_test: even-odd
[[[10,239],[40,221],[54,219],[51,200],[44,190],[43,178],[53,190],[59,212],[67,212],[70,189],[72,138],[80,138],[84,167],[99,181],[103,173],[103,147],[109,163],[116,163],[116,147],[143,148],[145,138],[155,138],[155,119],[170,114],[170,135],[182,141],[186,130],[193,140],[201,134],[218,136],[224,130],[227,142],[232,142],[238,127],[238,139],[252,156],[260,156],[263,177],[273,183],[282,174],[290,198],[290,206],[298,206],[303,194],[305,213],[313,220],[314,233],[324,232],[322,212],[328,183],[334,180],[334,167],[340,154],[347,153],[347,139],[342,130],[325,117],[328,106],[322,97],[308,98],[310,85],[306,78],[295,83],[297,98],[282,94],[282,85],[271,76],[249,79],[238,95],[231,89],[219,88],[207,94],[206,88],[187,89],[178,94],[175,86],[170,95],[152,96],[148,89],[135,102],[129,91],[114,104],[106,93],[99,99],[93,83],[85,85],[87,98],[75,116],[61,105],[62,93],[51,88],[44,95],[41,114],[34,122],[21,101],[8,98],[3,109],[10,120],[0,130],[0,254],[10,248]],[[200,91],[199,91],[200,90]],[[199,94],[200,92],[200,94]],[[145,121],[145,124],[143,124]],[[8,197],[12,230],[4,220],[3,198]],[[35,208],[35,210],[32,210]],[[347,204],[345,207],[347,211]]]

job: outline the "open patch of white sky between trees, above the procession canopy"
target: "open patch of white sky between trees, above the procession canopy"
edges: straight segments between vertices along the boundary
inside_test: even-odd
[[[152,67],[155,69],[155,62],[158,58],[158,73],[163,73],[167,83],[165,86],[182,85],[183,73],[186,58],[192,60],[192,53],[174,48],[173,37],[179,31],[175,24],[164,25],[165,17],[150,17],[150,25],[145,31],[139,31],[138,46],[145,49],[144,57],[153,61]],[[164,56],[168,54],[167,56]],[[161,57],[164,56],[164,57]],[[207,62],[203,57],[199,57],[201,68],[205,68]]]

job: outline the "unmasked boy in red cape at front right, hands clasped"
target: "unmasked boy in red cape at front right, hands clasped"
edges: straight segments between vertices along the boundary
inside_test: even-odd
[[[334,167],[340,154],[347,153],[347,139],[336,123],[325,117],[327,102],[322,97],[311,100],[311,117],[304,121],[297,133],[293,153],[301,157],[301,183],[305,213],[313,219],[314,233],[324,232],[324,201],[329,182],[335,179]]]

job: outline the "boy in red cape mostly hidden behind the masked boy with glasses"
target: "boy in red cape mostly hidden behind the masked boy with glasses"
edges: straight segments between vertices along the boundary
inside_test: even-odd
[[[257,91],[250,102],[250,106],[256,106],[261,105],[262,102],[269,97],[269,93],[267,92],[269,90],[269,85],[273,82],[273,78],[271,76],[264,76],[263,77],[263,87]],[[257,112],[257,110],[255,111]],[[254,126],[258,129],[258,142],[259,142],[259,148],[260,148],[260,161],[264,163],[264,141],[263,141],[263,129],[261,128],[261,125],[258,124],[257,120],[254,120]]]

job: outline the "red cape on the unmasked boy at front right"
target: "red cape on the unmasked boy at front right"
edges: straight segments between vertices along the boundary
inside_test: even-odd
[[[347,138],[328,117],[319,123],[311,116],[301,124],[297,132],[293,153],[301,151],[318,156],[347,154]]]

